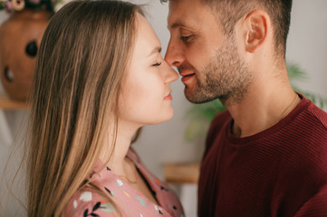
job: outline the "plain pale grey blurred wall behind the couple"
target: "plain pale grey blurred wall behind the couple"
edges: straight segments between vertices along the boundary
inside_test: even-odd
[[[159,35],[163,48],[162,55],[164,55],[169,39],[167,29],[168,4],[162,5],[159,0],[134,0],[132,2],[145,4],[149,22]],[[308,80],[298,81],[296,85],[302,90],[310,90],[324,98],[327,98],[326,12],[326,0],[293,1],[292,23],[286,52],[287,61],[299,64],[303,71],[308,74]],[[0,12],[0,23],[6,17],[5,12]],[[184,86],[180,80],[172,84],[174,118],[158,126],[144,127],[138,142],[133,145],[144,164],[161,179],[164,177],[163,165],[165,163],[198,162],[204,148],[203,139],[188,143],[184,137],[184,130],[188,125],[185,114],[192,105],[185,99],[183,89]],[[1,93],[4,92],[1,84],[0,91]],[[25,127],[28,127],[19,127],[23,117],[24,111],[0,109],[1,177],[10,148],[21,146],[19,142],[12,144],[13,137],[17,132],[22,132]],[[18,159],[16,161],[18,162]],[[175,188],[182,198],[187,216],[196,216],[196,185],[175,186]],[[0,193],[1,200],[8,200],[7,197],[4,198],[4,187]],[[20,212],[22,207],[19,203],[13,201],[9,204],[8,209],[9,211],[5,211],[5,216],[24,216],[24,212]]]

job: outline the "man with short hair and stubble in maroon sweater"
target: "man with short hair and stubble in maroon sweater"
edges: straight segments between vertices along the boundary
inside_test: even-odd
[[[198,216],[327,216],[327,114],[285,66],[292,0],[171,0],[166,61],[189,101],[220,99]]]

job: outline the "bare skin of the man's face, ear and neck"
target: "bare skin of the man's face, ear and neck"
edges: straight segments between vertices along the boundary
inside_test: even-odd
[[[272,127],[300,101],[287,78],[284,53],[264,9],[241,17],[226,34],[200,0],[169,1],[166,60],[178,68],[191,102],[221,99],[234,118],[232,133],[247,137]]]

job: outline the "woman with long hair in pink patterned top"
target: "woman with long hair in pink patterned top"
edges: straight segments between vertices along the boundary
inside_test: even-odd
[[[178,198],[130,149],[173,116],[178,79],[137,5],[78,1],[40,46],[28,147],[28,216],[181,216]]]

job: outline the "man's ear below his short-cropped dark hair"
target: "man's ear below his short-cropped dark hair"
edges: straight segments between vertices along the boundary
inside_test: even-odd
[[[252,11],[245,17],[245,50],[255,52],[267,38],[269,15],[262,10]]]

